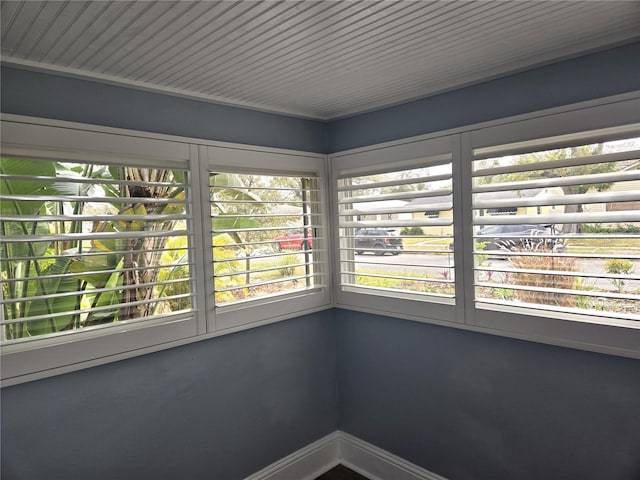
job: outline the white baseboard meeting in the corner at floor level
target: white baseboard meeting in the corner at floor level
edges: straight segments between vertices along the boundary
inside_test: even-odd
[[[338,464],[370,480],[446,480],[340,430],[287,455],[245,480],[313,480]]]

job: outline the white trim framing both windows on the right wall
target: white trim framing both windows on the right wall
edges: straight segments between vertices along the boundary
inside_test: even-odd
[[[436,132],[379,145],[338,152],[329,156],[332,171],[332,198],[337,196],[336,172],[344,163],[351,167],[386,161],[400,168],[410,158],[424,155],[416,153],[415,146],[427,145],[447,135],[453,141],[454,183],[454,252],[456,264],[455,315],[443,314],[441,306],[428,301],[420,302],[376,296],[370,293],[341,292],[336,287],[336,307],[374,314],[414,320],[453,328],[489,333],[493,335],[536,341],[582,350],[640,358],[640,322],[603,321],[586,315],[523,314],[508,307],[491,310],[478,308],[473,298],[472,209],[471,209],[471,161],[472,149],[507,143],[535,141],[539,138],[598,130],[618,125],[637,123],[640,120],[640,92],[619,95],[550,109],[533,114],[520,115],[492,122]],[[425,142],[425,143],[421,143]],[[334,205],[333,216],[337,215]],[[334,220],[334,228],[336,228]],[[458,248],[460,245],[462,248]],[[339,265],[334,261],[335,272]]]

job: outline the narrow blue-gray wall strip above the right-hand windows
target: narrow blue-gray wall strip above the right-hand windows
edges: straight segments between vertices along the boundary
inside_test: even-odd
[[[356,115],[328,125],[329,153],[640,90],[640,42]]]

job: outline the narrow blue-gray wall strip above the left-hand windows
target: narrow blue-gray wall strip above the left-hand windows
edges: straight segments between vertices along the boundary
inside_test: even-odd
[[[307,152],[322,122],[3,67],[2,112]]]

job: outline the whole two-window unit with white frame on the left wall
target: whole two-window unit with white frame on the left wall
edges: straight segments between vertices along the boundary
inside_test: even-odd
[[[323,156],[8,117],[4,385],[331,305]]]

